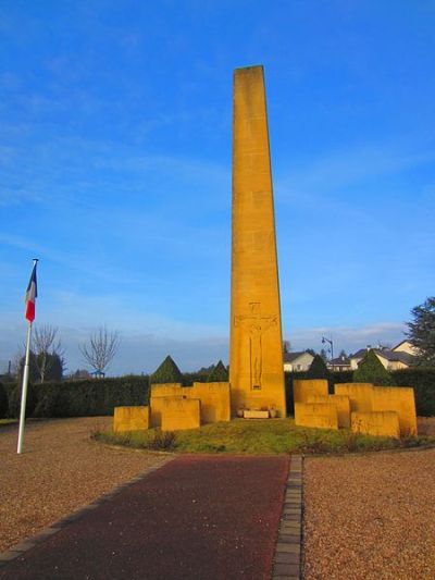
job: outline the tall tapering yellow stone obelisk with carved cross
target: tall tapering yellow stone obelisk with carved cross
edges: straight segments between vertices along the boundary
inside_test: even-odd
[[[229,383],[233,415],[286,415],[268,115],[262,66],[234,73]]]

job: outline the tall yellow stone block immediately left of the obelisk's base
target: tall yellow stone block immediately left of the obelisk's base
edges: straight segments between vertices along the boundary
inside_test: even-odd
[[[184,388],[188,398],[201,402],[201,423],[229,421],[231,398],[229,383],[198,383]]]

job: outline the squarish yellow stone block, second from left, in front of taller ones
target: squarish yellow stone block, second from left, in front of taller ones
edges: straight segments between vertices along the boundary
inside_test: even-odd
[[[162,431],[198,429],[201,424],[201,402],[199,398],[182,396],[161,397]]]

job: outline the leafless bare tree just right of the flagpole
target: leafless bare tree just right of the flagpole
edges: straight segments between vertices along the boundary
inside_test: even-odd
[[[36,326],[32,351],[35,355],[35,366],[38,369],[40,382],[44,383],[54,366],[60,367],[60,374],[63,373],[65,361],[64,350],[58,338],[59,329],[55,326]],[[58,374],[58,372],[55,372]]]

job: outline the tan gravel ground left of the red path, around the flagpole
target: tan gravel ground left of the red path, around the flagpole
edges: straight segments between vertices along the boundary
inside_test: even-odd
[[[29,422],[24,454],[17,427],[0,428],[0,552],[42,530],[169,456],[91,441],[111,417]]]

